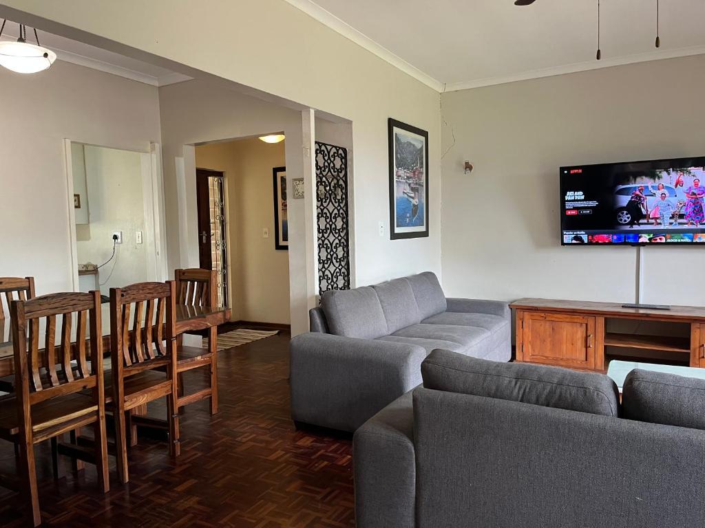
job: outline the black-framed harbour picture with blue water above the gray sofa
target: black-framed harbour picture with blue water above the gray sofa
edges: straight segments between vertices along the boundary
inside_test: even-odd
[[[429,133],[389,119],[389,237],[429,236]]]

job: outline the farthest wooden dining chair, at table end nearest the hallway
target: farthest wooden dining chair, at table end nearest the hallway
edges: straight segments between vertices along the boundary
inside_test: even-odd
[[[176,270],[176,303],[183,306],[216,306],[218,303],[217,279],[214,270],[190,268]],[[208,349],[185,346],[183,336],[177,338],[176,372],[178,374],[177,408],[205,398],[211,400],[211,414],[218,412],[218,327],[208,329]],[[185,394],[183,372],[199,367],[209,368],[209,386],[206,389]]]

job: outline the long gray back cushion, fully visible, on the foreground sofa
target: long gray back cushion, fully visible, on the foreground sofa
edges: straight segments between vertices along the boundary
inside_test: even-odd
[[[606,375],[529,363],[498,363],[436,350],[421,364],[424,387],[618,416],[619,393]]]

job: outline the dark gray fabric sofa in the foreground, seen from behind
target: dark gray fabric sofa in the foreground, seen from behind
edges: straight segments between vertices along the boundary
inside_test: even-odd
[[[705,382],[434,351],[353,439],[357,528],[705,525]]]

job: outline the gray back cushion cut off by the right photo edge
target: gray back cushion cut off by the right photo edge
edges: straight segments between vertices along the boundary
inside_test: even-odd
[[[622,388],[623,417],[705,429],[705,379],[632,370]]]

